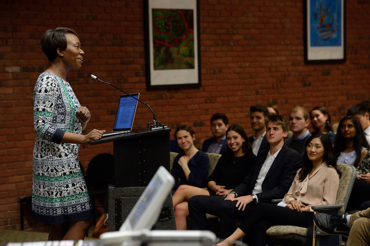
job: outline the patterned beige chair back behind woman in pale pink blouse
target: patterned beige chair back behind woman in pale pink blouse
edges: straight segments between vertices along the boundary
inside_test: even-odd
[[[356,179],[356,168],[351,165],[337,163],[337,169],[342,172],[342,176],[339,178],[339,188],[335,203],[342,204],[340,212],[344,213],[351,195],[354,180]]]

